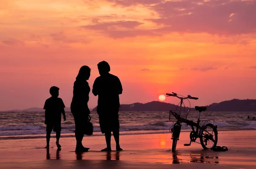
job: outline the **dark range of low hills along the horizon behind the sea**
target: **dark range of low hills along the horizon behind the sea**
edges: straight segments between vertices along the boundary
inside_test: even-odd
[[[119,111],[169,111],[176,110],[177,104],[171,104],[161,101],[151,101],[148,103],[133,103],[121,104]],[[229,101],[221,101],[220,103],[212,103],[207,107],[207,111],[241,111],[241,112],[256,112],[256,99],[232,99]],[[97,107],[90,109],[96,111]],[[187,110],[187,108],[186,108]],[[25,110],[7,110],[5,112],[42,112],[43,108],[31,107]],[[66,112],[70,112],[70,107],[65,108]],[[191,107],[191,111],[195,111]]]

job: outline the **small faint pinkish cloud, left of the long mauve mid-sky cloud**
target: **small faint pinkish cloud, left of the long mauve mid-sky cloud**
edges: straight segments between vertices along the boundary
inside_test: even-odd
[[[63,42],[63,43],[88,43],[90,40],[81,38],[69,38],[64,32],[57,32],[50,34],[53,40]]]

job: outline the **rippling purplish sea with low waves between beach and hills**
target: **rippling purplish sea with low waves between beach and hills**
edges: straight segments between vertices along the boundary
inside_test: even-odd
[[[91,112],[94,125],[93,135],[102,135],[99,118]],[[256,112],[203,112],[201,119],[215,119],[218,131],[256,130]],[[190,112],[189,120],[196,121],[198,112]],[[62,121],[61,137],[74,137],[75,124],[73,115],[66,112],[67,121]],[[119,112],[120,134],[155,134],[168,133],[173,122],[169,121],[169,112]],[[44,112],[0,112],[0,139],[44,138],[46,133]],[[181,132],[191,129],[182,125]],[[55,132],[52,132],[55,133]]]

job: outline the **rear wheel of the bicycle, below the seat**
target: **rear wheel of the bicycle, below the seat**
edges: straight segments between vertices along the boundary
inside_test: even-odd
[[[204,149],[212,149],[217,145],[218,132],[213,124],[206,124],[200,132],[200,143]]]

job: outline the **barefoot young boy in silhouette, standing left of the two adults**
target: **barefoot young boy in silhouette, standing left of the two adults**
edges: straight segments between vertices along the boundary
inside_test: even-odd
[[[51,137],[52,129],[56,132],[56,145],[58,148],[61,148],[59,140],[61,137],[61,113],[63,114],[64,121],[66,121],[65,115],[65,105],[61,98],[58,98],[59,88],[52,86],[50,88],[50,94],[52,97],[47,99],[44,104],[45,110],[45,121],[46,124],[46,142],[47,145],[45,148],[49,148],[49,142]]]

